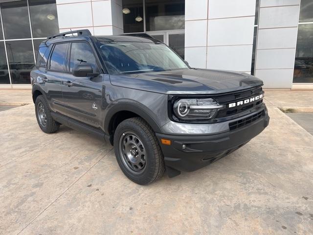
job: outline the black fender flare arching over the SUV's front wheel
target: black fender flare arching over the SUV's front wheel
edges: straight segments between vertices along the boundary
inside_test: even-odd
[[[112,117],[121,111],[129,111],[132,112],[141,118],[145,119],[148,124],[151,126],[154,132],[162,133],[160,126],[157,124],[156,120],[148,114],[143,108],[136,105],[134,102],[123,102],[115,104],[112,108],[109,109],[105,120],[104,120],[104,131],[105,133],[110,133],[110,124],[112,121]]]

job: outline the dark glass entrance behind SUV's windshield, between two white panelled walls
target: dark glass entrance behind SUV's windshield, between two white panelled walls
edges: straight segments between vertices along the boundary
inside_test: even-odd
[[[123,0],[124,33],[147,33],[184,59],[184,0]]]

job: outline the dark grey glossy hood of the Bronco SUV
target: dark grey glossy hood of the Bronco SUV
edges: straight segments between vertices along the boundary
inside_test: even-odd
[[[217,94],[263,85],[244,72],[188,69],[110,75],[114,86],[162,94]]]

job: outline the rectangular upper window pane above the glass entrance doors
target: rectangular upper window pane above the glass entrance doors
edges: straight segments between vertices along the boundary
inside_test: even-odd
[[[145,4],[147,31],[185,28],[184,0],[145,0]]]

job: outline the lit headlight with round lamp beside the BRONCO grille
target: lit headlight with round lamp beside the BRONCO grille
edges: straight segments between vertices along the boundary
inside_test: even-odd
[[[214,99],[179,99],[173,105],[177,118],[183,120],[211,119],[224,105],[219,105]]]

